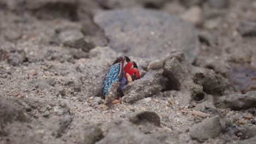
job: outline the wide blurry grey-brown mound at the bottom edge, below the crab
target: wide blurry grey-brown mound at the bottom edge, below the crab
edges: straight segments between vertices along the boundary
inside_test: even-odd
[[[108,133],[96,144],[103,143],[143,143],[143,144],[158,144],[159,141],[153,139],[149,135],[143,134],[141,131],[132,126],[131,123],[122,120],[114,120],[108,126]]]

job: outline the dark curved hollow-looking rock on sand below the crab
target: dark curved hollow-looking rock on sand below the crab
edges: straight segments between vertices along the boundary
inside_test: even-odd
[[[129,118],[132,123],[143,123],[144,121],[153,123],[154,125],[160,127],[160,117],[157,113],[153,111],[141,111],[133,113],[133,115]]]

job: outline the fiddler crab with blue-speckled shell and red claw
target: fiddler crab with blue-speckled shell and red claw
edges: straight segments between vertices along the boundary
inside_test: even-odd
[[[124,65],[126,61],[126,64]],[[132,67],[133,66],[133,67]],[[135,76],[133,76],[133,74]],[[104,77],[101,92],[103,94],[103,98],[105,98],[108,94],[108,89],[111,84],[118,80],[120,82],[120,87],[118,88],[118,97],[116,100],[119,100],[124,96],[122,89],[125,85],[132,82],[132,78],[139,79],[141,75],[139,75],[139,70],[137,64],[130,60],[129,57],[117,57],[112,64],[112,66],[108,69],[106,76]],[[113,101],[114,103],[114,101]]]

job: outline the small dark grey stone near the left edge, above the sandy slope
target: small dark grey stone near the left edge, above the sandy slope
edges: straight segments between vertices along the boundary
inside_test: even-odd
[[[11,51],[8,57],[8,63],[14,66],[20,65],[26,61],[26,53],[24,50]]]

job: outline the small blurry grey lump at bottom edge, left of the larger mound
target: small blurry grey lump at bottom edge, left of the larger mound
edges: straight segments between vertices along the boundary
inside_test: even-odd
[[[103,138],[100,127],[94,124],[79,125],[79,144],[94,144]]]

